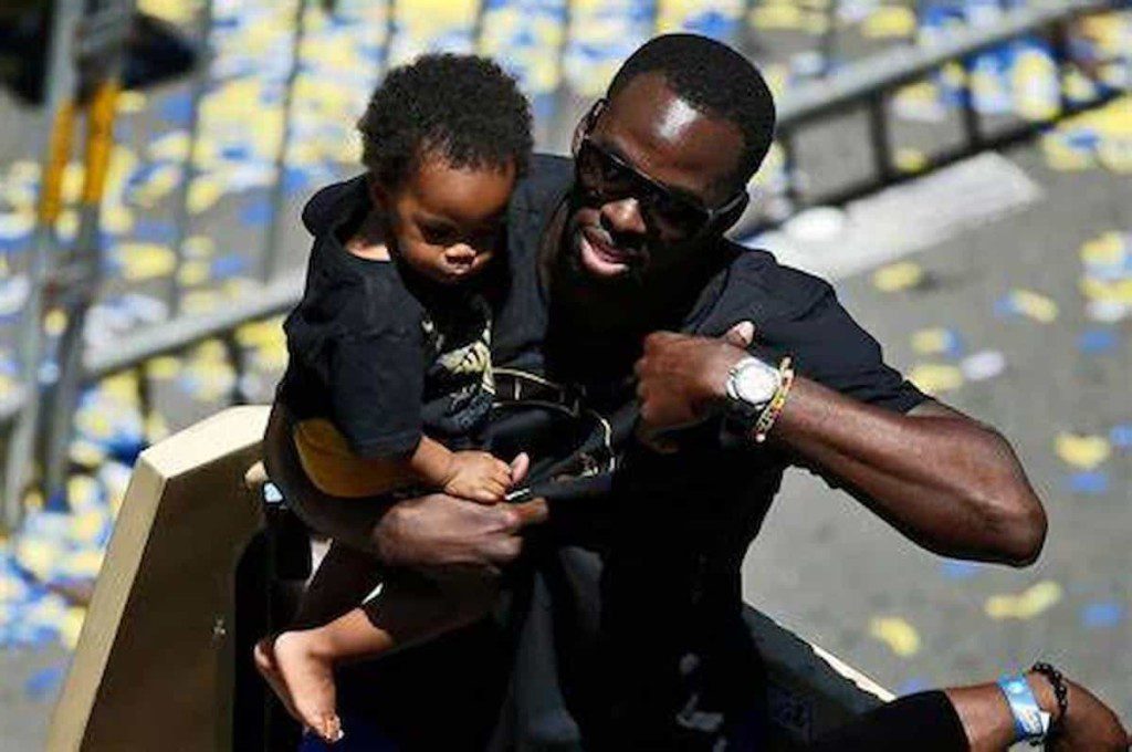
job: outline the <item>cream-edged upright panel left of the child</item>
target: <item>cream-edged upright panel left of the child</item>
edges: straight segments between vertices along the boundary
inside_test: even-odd
[[[242,479],[267,410],[225,410],[142,453],[50,752],[230,746],[233,572],[260,524]]]

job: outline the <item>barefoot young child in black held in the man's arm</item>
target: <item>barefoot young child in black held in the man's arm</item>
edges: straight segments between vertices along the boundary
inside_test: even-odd
[[[284,324],[276,409],[319,494],[359,507],[393,492],[500,502],[512,465],[473,447],[494,394],[488,345],[503,273],[492,257],[532,148],[528,102],[486,59],[424,55],[385,77],[359,130],[367,174],[305,211],[309,228],[316,205],[329,203],[334,219],[316,234],[303,298]],[[303,499],[288,493],[301,513]],[[342,736],[336,663],[428,639],[491,605],[490,589],[454,596],[395,579],[365,610],[256,646],[288,710],[328,742]],[[419,603],[430,598],[461,603]]]

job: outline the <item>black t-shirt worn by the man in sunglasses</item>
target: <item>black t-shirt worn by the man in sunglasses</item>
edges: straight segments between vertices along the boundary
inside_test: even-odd
[[[558,375],[547,373],[563,356],[548,352],[552,306],[538,260],[572,178],[568,160],[539,155],[512,197],[508,289],[492,332],[497,370]],[[775,361],[789,353],[801,376],[894,411],[926,399],[884,364],[876,341],[827,283],[779,265],[766,251],[721,242],[714,250],[728,262],[700,291],[680,328],[714,336],[751,321],[757,332],[752,350]],[[598,342],[569,344],[568,359],[597,357]],[[592,393],[594,385],[588,386]],[[575,749],[582,738],[590,749],[667,749],[674,738],[681,749],[713,749],[737,716],[758,704],[758,659],[740,617],[739,567],[787,458],[769,447],[721,446],[715,427],[698,429],[678,454],[651,454],[612,420],[624,419],[626,408],[632,418],[632,385],[617,377],[601,392],[600,403],[575,411],[576,418],[538,407],[494,413],[490,446],[501,456],[532,451],[535,479],[540,469],[555,467],[551,455],[568,452],[571,442],[591,446],[603,430],[624,439],[616,446],[620,464],[607,485],[584,485],[584,499],[563,499],[557,507],[575,522],[573,511],[592,512],[580,515],[583,525],[601,519],[599,540],[583,548],[531,548],[533,583],[518,589],[520,605],[504,630],[513,650],[499,663],[511,672],[501,711],[482,678],[468,680],[473,689],[454,680],[449,668],[468,650],[456,638],[424,648],[418,658],[406,656],[395,678],[378,680],[396,689],[383,694],[375,712],[413,729],[405,736],[409,749],[437,742],[420,735],[424,728],[445,743],[460,740],[462,749],[482,746],[470,738],[491,738],[491,749],[551,742],[559,745],[554,749]],[[621,405],[610,396],[618,394]],[[578,421],[582,428],[572,429]],[[607,430],[610,425],[614,430]],[[539,490],[571,495],[571,486],[563,494],[557,488],[543,480]],[[555,515],[552,510],[552,521]],[[451,702],[437,697],[437,684]],[[470,695],[481,704],[469,706]],[[430,725],[438,713],[449,725]]]

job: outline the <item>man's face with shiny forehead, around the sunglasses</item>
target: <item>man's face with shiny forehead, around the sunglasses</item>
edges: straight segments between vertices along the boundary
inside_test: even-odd
[[[649,180],[704,207],[731,198],[729,185],[743,149],[730,122],[713,119],[677,97],[660,74],[633,79],[600,111],[586,138]],[[567,221],[567,242],[588,276],[642,281],[686,267],[691,254],[707,253],[671,223],[658,221],[641,196],[603,197],[580,181]],[[709,232],[718,230],[709,229]]]

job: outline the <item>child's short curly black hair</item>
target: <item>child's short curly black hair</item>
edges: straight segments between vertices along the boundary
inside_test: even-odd
[[[531,108],[515,79],[470,54],[424,54],[388,72],[358,121],[362,163],[396,188],[426,156],[454,168],[523,174],[533,148]]]

